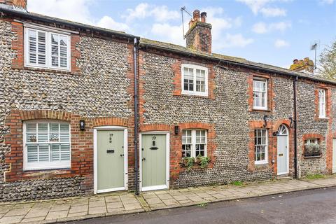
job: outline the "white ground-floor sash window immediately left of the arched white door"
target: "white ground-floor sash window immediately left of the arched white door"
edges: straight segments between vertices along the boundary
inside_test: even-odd
[[[255,164],[267,163],[267,130],[254,131]]]

